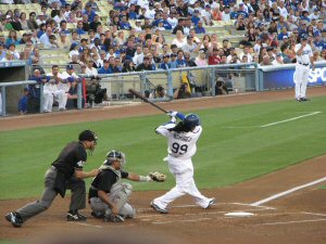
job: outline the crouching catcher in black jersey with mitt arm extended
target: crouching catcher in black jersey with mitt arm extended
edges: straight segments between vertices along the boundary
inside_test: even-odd
[[[124,165],[126,157],[123,152],[111,150],[106,154],[89,189],[89,204],[95,218],[104,219],[105,222],[123,222],[124,218],[135,217],[135,209],[128,204],[133,187],[122,179],[141,182],[163,182],[166,179],[161,172],[150,172],[148,176],[126,172],[122,170]]]

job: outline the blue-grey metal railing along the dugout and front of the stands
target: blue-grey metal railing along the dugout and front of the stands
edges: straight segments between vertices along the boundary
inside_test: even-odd
[[[158,69],[151,72],[133,72],[118,73],[109,75],[98,75],[102,86],[110,87],[111,100],[134,100],[128,97],[128,89],[133,88],[142,94],[153,91],[158,85],[163,85],[166,89],[167,97],[173,99],[174,90],[179,87],[184,75],[191,74],[196,78],[196,88],[192,93],[201,93],[201,95],[215,95],[215,84],[217,77],[222,77],[225,81],[233,85],[233,88],[239,92],[258,91],[259,89],[259,72],[256,63],[249,64],[226,64],[210,65],[204,67],[183,67],[173,69]],[[89,79],[90,75],[78,74],[79,77]],[[36,85],[35,80],[24,80],[14,82],[0,82],[2,93],[2,113],[5,116],[5,88],[21,85]],[[199,92],[197,91],[199,89]],[[83,108],[83,88],[78,82],[77,108]],[[203,94],[204,93],[204,94]],[[171,100],[170,99],[170,100]],[[166,99],[155,99],[154,101],[166,101]],[[43,89],[40,85],[40,113],[43,113]]]

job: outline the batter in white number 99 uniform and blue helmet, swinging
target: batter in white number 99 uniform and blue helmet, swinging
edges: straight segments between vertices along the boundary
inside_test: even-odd
[[[170,171],[174,175],[176,185],[164,195],[154,198],[151,207],[161,214],[167,214],[167,205],[174,200],[189,194],[196,204],[202,208],[209,208],[215,203],[215,198],[203,196],[196,187],[193,180],[193,166],[191,157],[196,154],[196,143],[202,132],[199,117],[195,114],[184,115],[178,112],[170,112],[171,121],[159,126],[156,133],[167,138],[167,160]],[[179,118],[177,125],[176,118]]]

